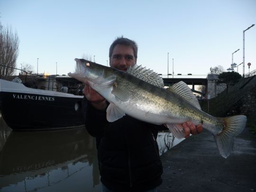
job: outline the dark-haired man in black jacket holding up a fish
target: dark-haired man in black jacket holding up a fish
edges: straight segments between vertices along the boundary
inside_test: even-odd
[[[110,46],[110,66],[126,71],[137,62],[137,45],[127,38],[117,38]],[[83,111],[85,127],[96,137],[103,192],[156,192],[162,183],[163,167],[156,142],[158,130],[153,125],[128,115],[114,122],[106,119],[108,102],[86,84]],[[202,131],[191,122],[182,124],[185,137]]]

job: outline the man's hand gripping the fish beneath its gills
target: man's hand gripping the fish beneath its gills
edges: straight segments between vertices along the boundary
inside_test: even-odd
[[[97,110],[103,110],[107,107],[107,101],[97,91],[94,91],[89,83],[85,83],[83,94],[91,105]]]

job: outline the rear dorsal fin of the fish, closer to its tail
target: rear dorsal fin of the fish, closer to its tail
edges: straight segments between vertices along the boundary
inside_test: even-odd
[[[201,110],[201,106],[194,96],[193,92],[191,89],[188,87],[188,85],[185,82],[177,82],[173,86],[168,87],[167,90],[172,91],[179,96],[181,96],[183,99],[188,101],[190,104],[192,104],[194,107],[197,109]]]

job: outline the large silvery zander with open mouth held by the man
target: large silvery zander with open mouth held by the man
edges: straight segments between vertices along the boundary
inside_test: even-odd
[[[184,137],[181,124],[192,121],[201,124],[215,137],[219,153],[227,158],[232,151],[234,137],[246,126],[246,116],[215,118],[201,110],[199,102],[184,82],[165,89],[157,73],[141,66],[129,67],[127,72],[75,59],[75,73],[69,76],[88,82],[110,105],[107,119],[113,122],[124,115],[153,123],[166,124],[174,136]]]

